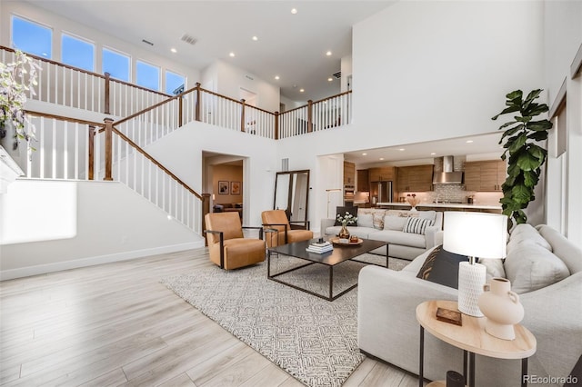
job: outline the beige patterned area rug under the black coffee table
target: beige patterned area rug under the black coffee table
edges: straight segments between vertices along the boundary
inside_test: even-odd
[[[365,259],[386,263],[372,254]],[[272,260],[276,273],[305,263],[286,256]],[[390,259],[396,270],[406,263]],[[336,266],[334,293],[356,283],[364,266],[351,261]],[[328,271],[320,264],[280,278],[328,292]],[[266,262],[228,272],[209,267],[161,282],[307,386],[341,386],[364,360],[357,348],[357,288],[328,302],[268,280]]]

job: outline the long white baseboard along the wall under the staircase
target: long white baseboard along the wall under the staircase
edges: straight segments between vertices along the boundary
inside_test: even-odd
[[[48,263],[48,264],[38,264],[35,266],[19,267],[17,269],[10,269],[0,271],[0,281],[13,280],[15,278],[30,277],[33,275],[42,275],[48,273],[62,272],[64,270],[78,269],[80,267],[95,266],[97,264],[103,263],[114,263],[120,261],[128,261],[136,258],[143,258],[146,256],[163,254],[163,253],[175,253],[184,250],[199,249],[205,246],[204,240],[191,242],[191,243],[180,243],[172,244],[168,246],[154,247],[151,249],[134,250],[131,252],[124,253],[113,253],[106,255],[99,255],[95,257],[79,258],[70,261],[58,262],[58,263]]]

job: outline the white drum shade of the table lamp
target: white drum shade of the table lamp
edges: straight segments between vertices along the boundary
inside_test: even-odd
[[[443,248],[478,258],[507,256],[507,216],[500,213],[445,212]]]

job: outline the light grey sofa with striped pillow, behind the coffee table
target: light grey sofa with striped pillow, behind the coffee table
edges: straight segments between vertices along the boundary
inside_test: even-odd
[[[424,230],[405,230],[408,218],[426,219],[431,222]],[[322,219],[322,235],[336,235],[341,226],[336,219]],[[442,243],[443,213],[436,211],[399,211],[376,208],[357,209],[357,226],[347,226],[350,234],[364,239],[388,243],[391,257],[413,260],[427,249]],[[406,232],[410,231],[410,232]],[[386,247],[372,253],[385,255]]]

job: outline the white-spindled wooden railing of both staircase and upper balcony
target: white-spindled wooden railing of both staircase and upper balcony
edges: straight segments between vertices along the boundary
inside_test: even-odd
[[[271,139],[308,134],[349,124],[351,92],[337,94],[285,113],[271,113],[196,87],[175,96],[128,84],[31,55],[43,69],[32,100],[118,119],[95,123],[28,112],[36,127],[35,152],[21,167],[28,178],[119,181],[200,233],[208,197],[196,193],[147,154],[145,148],[193,121]],[[0,46],[4,63],[14,50]]]

